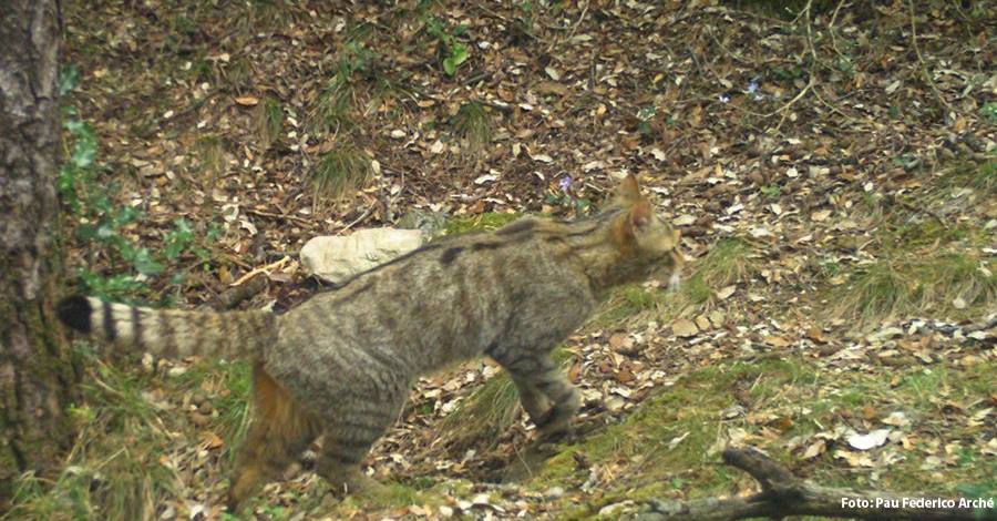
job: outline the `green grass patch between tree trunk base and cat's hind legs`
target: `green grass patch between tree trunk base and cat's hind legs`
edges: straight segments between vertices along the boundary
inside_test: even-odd
[[[63,472],[54,481],[21,477],[14,507],[0,519],[155,519],[156,508],[193,471],[182,467],[197,467],[204,459],[210,468],[198,472],[214,473],[217,480],[228,471],[228,464],[218,462],[230,460],[244,436],[247,364],[194,365],[168,381],[96,360],[90,365],[85,402],[72,409],[80,433]],[[205,396],[215,411],[204,427],[186,420],[185,397],[194,395]],[[206,432],[225,441],[216,457],[192,450]]]

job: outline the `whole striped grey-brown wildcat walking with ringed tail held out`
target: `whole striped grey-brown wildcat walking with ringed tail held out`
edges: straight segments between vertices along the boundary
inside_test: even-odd
[[[595,217],[527,217],[430,243],[282,315],[74,296],[59,316],[122,348],[253,360],[254,420],[227,498],[235,512],[319,436],[322,478],[346,492],[377,486],[361,460],[398,417],[413,379],[453,360],[490,356],[512,375],[541,435],[564,433],[580,398],[551,350],[607,288],[652,275],[677,280],[678,237],[628,176]]]

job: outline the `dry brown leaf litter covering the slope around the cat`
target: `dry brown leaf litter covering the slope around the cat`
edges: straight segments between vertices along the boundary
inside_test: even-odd
[[[934,418],[903,401],[824,415],[792,403],[847,395],[850,384],[898,368],[928,379],[993,367],[997,321],[956,314],[969,307],[967,297],[856,328],[854,316],[829,311],[834,297],[824,290],[851,288],[851,269],[894,258],[884,234],[924,223],[983,223],[983,242],[954,244],[973,252],[979,269],[993,269],[993,174],[939,186],[959,178],[953,164],[994,161],[997,76],[989,65],[997,59],[985,31],[997,19],[994,7],[980,3],[974,18],[952,3],[926,2],[912,13],[905,2],[886,2],[811,7],[784,19],[717,1],[223,3],[191,4],[184,14],[167,0],[93,2],[85,12],[70,4],[66,12],[66,62],[84,76],[73,102],[93,122],[104,166],[132,174],[121,202],[148,214],[126,233],[153,247],[177,215],[202,223],[201,231],[207,223],[224,228],[210,269],[177,292],[182,304],[202,304],[273,266],[265,269],[269,297],[289,306],[312,287],[297,263],[281,259],[311,236],[391,225],[411,211],[571,217],[590,212],[587,203],[604,198],[615,178],[637,173],[682,231],[690,270],[730,237],[750,237],[763,267],[665,315],[639,311],[641,321],[594,324],[573,336],[565,348],[585,401],[579,429],[624,421],[686,375],[774,358],[802,360],[826,377],[787,386],[781,400],[759,410],[750,391],[738,398],[721,415],[724,442],[874,474],[903,460],[925,471],[955,469],[967,450],[997,456],[993,392],[989,401],[965,402],[938,389],[925,398],[939,412]],[[466,58],[444,65],[453,44]],[[279,116],[273,140],[259,132],[258,110],[268,101]],[[490,129],[483,146],[455,122],[472,101]],[[198,153],[209,135],[219,137],[215,159]],[[377,172],[325,201],[308,180],[342,143]],[[929,198],[938,193],[944,197]],[[970,310],[993,310],[987,298]],[[579,463],[588,469],[583,482],[557,491],[489,484],[531,442],[523,415],[470,447],[449,446],[440,431],[497,374],[477,361],[420,380],[399,426],[368,460],[380,479],[467,488],[448,489],[444,504],[378,514],[340,507],[338,515],[553,518],[561,505],[629,479],[625,464],[614,471],[587,462]],[[915,376],[887,378],[886,387]],[[199,432],[165,457],[184,487],[161,519],[219,519],[216,501],[205,498],[222,493],[225,441],[196,419],[218,412],[204,400],[156,392],[151,400],[188,411]],[[811,417],[826,421],[798,432]],[[679,432],[667,443],[689,440]],[[295,494],[321,497],[320,488],[301,472],[271,484],[264,501],[294,504]],[[323,519],[321,511],[300,519]]]

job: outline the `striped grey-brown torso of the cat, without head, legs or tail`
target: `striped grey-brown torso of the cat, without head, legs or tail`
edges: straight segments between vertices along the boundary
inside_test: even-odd
[[[565,223],[523,218],[430,243],[287,311],[280,343],[314,346],[296,357],[315,367],[335,359],[419,372],[480,355],[511,329],[574,328],[593,296],[563,244],[569,233]]]

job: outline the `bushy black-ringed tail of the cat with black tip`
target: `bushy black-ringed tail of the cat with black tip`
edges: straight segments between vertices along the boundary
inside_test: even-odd
[[[56,308],[69,327],[121,348],[168,358],[256,358],[276,341],[276,316],[266,310],[184,311],[73,296]]]

